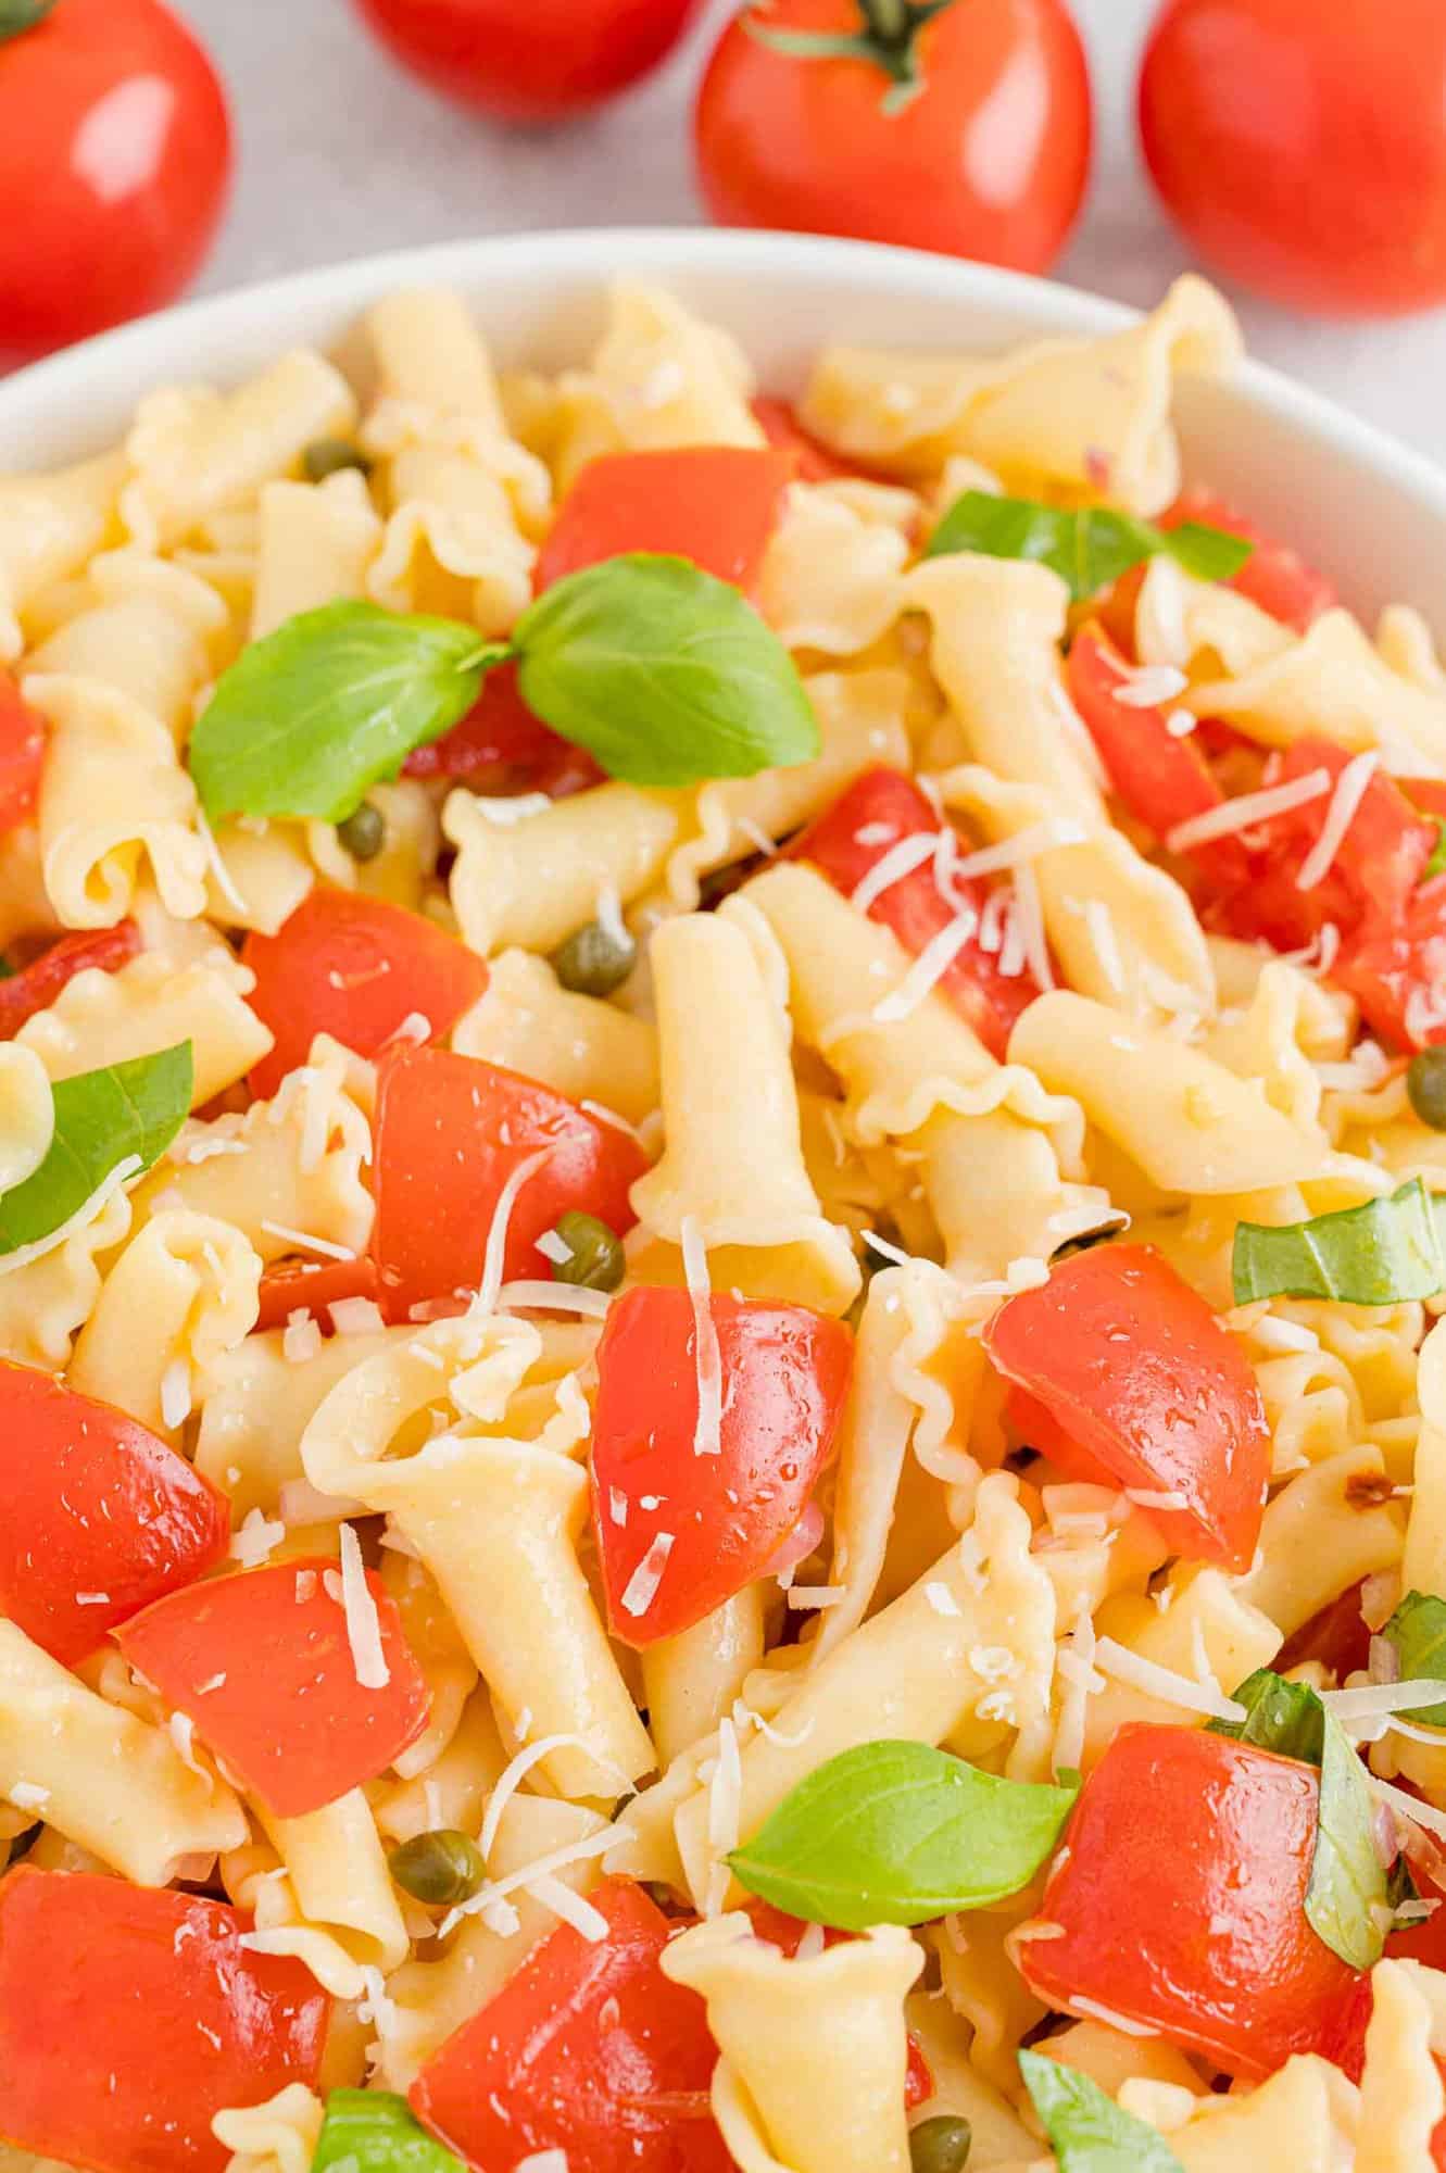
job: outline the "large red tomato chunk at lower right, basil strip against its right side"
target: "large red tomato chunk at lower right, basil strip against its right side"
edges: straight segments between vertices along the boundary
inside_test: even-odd
[[[1196,1728],[1131,1723],[1090,1775],[1018,1964],[1259,2082],[1335,2043],[1359,1973],[1305,1914],[1320,1775]],[[1025,1927],[1027,1930],[1027,1927]]]

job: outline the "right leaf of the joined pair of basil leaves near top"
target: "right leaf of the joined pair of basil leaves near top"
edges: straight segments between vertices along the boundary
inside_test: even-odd
[[[751,778],[819,752],[784,643],[686,558],[625,552],[569,574],[512,643],[528,708],[627,784]]]

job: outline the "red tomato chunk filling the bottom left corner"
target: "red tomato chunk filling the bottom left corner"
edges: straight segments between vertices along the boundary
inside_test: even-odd
[[[332,2006],[245,1930],[89,1871],[0,1880],[0,2136],[91,2173],[221,2173],[213,2114],[315,2084]]]

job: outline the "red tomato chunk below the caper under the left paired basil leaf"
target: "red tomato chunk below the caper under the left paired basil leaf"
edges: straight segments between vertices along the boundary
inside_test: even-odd
[[[250,1073],[261,1097],[306,1063],[313,1034],[376,1056],[421,1015],[436,1041],[486,989],[478,954],[421,913],[330,887],[308,891],[274,937],[248,934],[241,960],[256,976],[250,1006],[276,1034]]]

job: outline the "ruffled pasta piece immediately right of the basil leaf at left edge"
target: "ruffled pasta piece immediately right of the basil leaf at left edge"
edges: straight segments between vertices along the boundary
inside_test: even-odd
[[[178,1204],[215,1215],[243,1232],[265,1267],[291,1252],[363,1252],[376,1213],[363,1180],[371,1126],[345,1080],[343,1052],[317,1043],[269,1102],[187,1126],[139,1189],[141,1213]]]

